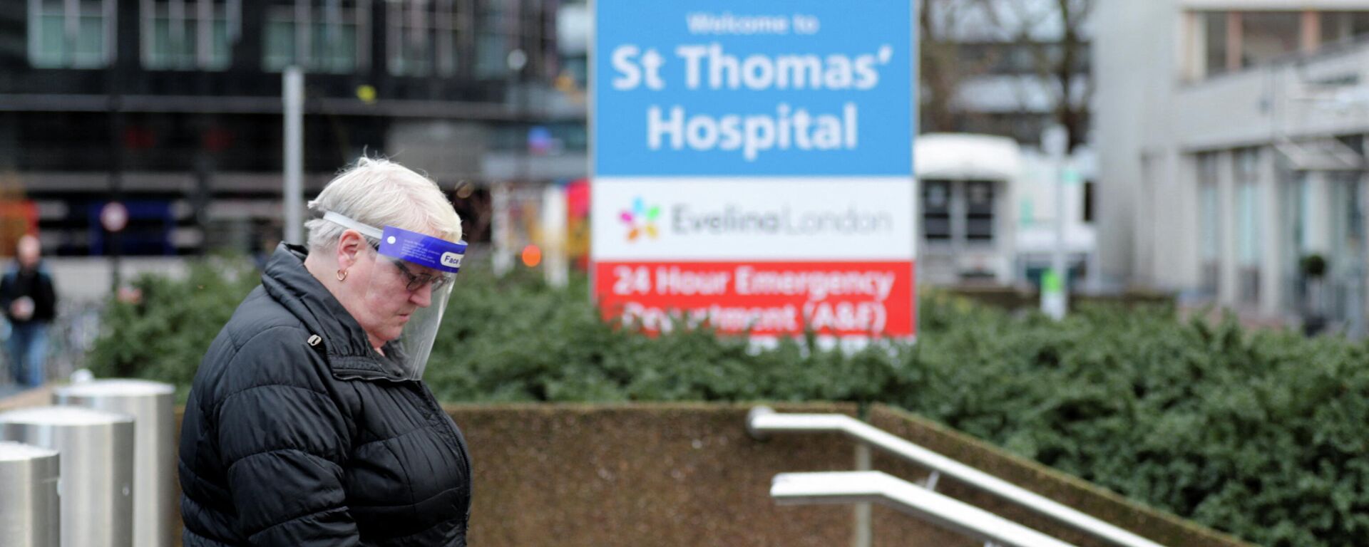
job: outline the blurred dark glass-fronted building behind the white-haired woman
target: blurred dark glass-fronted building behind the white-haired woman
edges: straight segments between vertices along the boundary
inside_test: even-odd
[[[112,193],[142,215],[122,243],[126,254],[248,246],[255,231],[279,231],[279,71],[298,63],[308,72],[307,189],[361,153],[408,159],[444,187],[493,182],[498,175],[482,164],[491,153],[527,156],[537,182],[568,178],[564,165],[574,161],[539,157],[587,148],[585,111],[568,108],[576,103],[553,81],[561,59],[548,23],[559,5],[16,0],[0,18],[0,101],[18,97],[0,109],[0,168],[38,204],[38,230],[55,254],[112,249],[90,215]],[[554,114],[508,108],[511,48],[527,52],[522,96],[556,105]],[[112,111],[118,104],[123,109]],[[412,127],[427,122],[457,130],[415,141]],[[419,160],[413,142],[461,153]],[[136,241],[142,228],[155,245]]]

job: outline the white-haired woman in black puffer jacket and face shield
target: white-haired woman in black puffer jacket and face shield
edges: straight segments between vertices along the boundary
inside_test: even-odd
[[[370,159],[309,208],[308,248],[277,248],[196,373],[183,544],[464,546],[465,439],[420,379],[460,219],[431,181]]]

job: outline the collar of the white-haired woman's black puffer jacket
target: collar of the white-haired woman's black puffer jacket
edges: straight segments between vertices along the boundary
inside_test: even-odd
[[[322,343],[315,346],[327,357],[338,379],[405,380],[401,366],[371,349],[356,319],[323,283],[304,268],[308,249],[281,243],[261,272],[266,293],[290,310]],[[389,349],[386,353],[390,353]]]

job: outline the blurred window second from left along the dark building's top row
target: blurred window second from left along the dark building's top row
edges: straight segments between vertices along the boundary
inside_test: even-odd
[[[241,21],[241,4],[229,0],[142,0],[142,66],[225,70]]]

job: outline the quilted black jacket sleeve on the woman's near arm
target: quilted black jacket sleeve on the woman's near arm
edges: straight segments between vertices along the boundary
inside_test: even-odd
[[[238,533],[252,546],[356,546],[342,487],[346,420],[298,332],[267,330],[230,364],[216,423]]]

